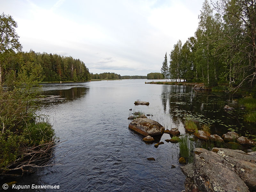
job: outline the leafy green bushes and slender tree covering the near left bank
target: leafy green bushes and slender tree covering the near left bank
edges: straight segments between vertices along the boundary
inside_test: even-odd
[[[38,82],[46,78],[43,72],[48,68],[41,65],[40,54],[14,52],[21,48],[16,27],[11,16],[0,15],[0,174],[10,167],[16,169],[19,163],[22,166],[17,169],[33,163],[36,154],[45,154],[55,140],[50,124],[35,121],[39,110],[35,104],[40,91]],[[49,62],[52,58],[50,55],[47,64],[53,62]],[[25,156],[27,163],[23,161]]]

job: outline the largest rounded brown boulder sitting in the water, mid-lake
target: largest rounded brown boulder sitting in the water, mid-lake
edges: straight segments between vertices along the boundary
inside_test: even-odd
[[[164,133],[164,127],[158,122],[148,118],[137,118],[129,124],[129,129],[144,136],[154,136]]]

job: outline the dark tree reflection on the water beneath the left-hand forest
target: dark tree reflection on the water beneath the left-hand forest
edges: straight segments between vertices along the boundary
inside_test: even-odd
[[[51,90],[44,91],[41,94],[46,97],[40,100],[40,103],[60,103],[70,100],[76,100],[86,95],[89,91],[89,87],[72,87],[67,90]]]

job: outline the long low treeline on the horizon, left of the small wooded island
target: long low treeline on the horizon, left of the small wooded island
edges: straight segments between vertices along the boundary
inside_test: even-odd
[[[147,76],[129,76],[129,75],[125,75],[125,76],[121,76],[119,74],[116,73],[90,73],[91,79],[146,79]]]

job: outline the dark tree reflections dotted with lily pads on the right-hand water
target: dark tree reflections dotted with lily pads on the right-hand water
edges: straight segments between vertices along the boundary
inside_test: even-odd
[[[214,134],[221,135],[234,128],[236,128],[236,132],[241,134],[244,134],[246,129],[251,130],[248,127],[250,125],[243,122],[242,111],[223,110],[223,107],[228,104],[228,100],[232,101],[237,98],[235,95],[194,91],[191,86],[171,85],[169,92],[165,92],[164,96],[168,99],[169,114],[172,122],[176,125],[184,123],[185,118],[189,117],[202,124],[210,123]],[[247,128],[245,129],[244,126]]]

